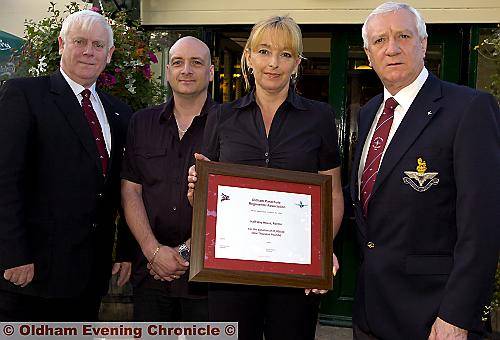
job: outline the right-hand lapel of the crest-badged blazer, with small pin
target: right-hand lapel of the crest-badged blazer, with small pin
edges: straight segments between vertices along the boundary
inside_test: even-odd
[[[440,80],[429,73],[424,86],[415,97],[415,100],[394,134],[391,143],[387,147],[372,190],[372,197],[377,194],[377,190],[399,160],[438,113],[441,107],[441,104],[437,102],[439,98],[441,98]]]

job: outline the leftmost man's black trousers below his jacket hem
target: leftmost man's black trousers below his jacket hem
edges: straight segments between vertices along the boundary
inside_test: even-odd
[[[1,321],[97,321],[101,296],[43,298],[0,290]]]

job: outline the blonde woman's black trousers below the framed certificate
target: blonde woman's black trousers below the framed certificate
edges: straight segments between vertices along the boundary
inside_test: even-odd
[[[237,321],[239,340],[314,340],[320,297],[303,289],[210,284],[210,321]]]

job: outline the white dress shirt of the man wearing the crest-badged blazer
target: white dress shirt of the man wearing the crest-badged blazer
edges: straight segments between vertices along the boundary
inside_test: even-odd
[[[387,137],[387,143],[385,143],[384,146],[384,151],[382,152],[382,155],[380,156],[380,165],[382,165],[382,162],[384,160],[384,155],[385,151],[387,150],[387,147],[391,143],[392,137],[396,133],[396,130],[398,129],[399,125],[403,121],[403,118],[406,115],[406,112],[408,112],[408,109],[410,108],[411,104],[415,100],[415,97],[417,96],[418,92],[424,85],[425,81],[427,80],[427,77],[429,76],[429,72],[427,69],[424,67],[422,68],[422,71],[418,75],[418,77],[411,83],[410,85],[406,86],[405,88],[399,90],[396,95],[391,95],[389,91],[384,87],[384,100],[382,101],[382,104],[380,104],[380,107],[377,111],[377,114],[375,115],[375,119],[373,120],[372,126],[370,128],[370,132],[368,133],[368,136],[366,137],[365,144],[363,145],[363,152],[361,153],[361,159],[359,162],[359,168],[358,168],[358,198],[359,198],[359,186],[361,185],[361,175],[363,174],[363,169],[365,167],[365,162],[366,162],[366,157],[368,156],[368,150],[370,148],[371,140],[373,137],[373,133],[375,131],[375,127],[377,126],[378,119],[380,115],[382,114],[382,111],[384,110],[384,103],[387,99],[390,97],[394,97],[396,101],[398,102],[398,106],[396,106],[396,109],[394,110],[394,120],[392,122],[391,130],[389,131],[389,136]]]

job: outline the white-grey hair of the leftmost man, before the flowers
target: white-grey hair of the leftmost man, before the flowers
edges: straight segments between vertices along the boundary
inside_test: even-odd
[[[59,36],[64,42],[66,42],[68,33],[75,24],[79,25],[84,31],[89,31],[90,28],[96,24],[101,25],[101,27],[104,28],[108,34],[108,50],[114,46],[113,30],[108,23],[108,19],[106,19],[103,15],[88,9],[68,15],[66,19],[64,19],[61,32],[59,33]]]

